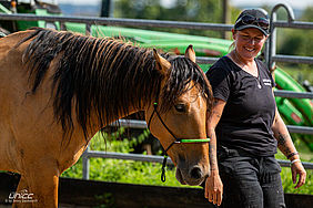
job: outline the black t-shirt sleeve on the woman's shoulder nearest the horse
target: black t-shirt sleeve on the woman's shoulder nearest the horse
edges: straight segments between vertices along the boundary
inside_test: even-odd
[[[213,96],[215,98],[221,98],[228,101],[230,96],[230,72],[224,67],[212,66],[206,72],[206,77],[212,86]]]

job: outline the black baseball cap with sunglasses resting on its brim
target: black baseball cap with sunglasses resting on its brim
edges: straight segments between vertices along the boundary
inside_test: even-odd
[[[264,35],[267,35],[270,32],[270,20],[266,12],[261,9],[243,10],[235,21],[234,30],[246,28],[256,28]]]

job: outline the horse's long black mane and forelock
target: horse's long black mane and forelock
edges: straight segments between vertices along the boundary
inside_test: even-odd
[[[23,62],[30,70],[32,93],[42,82],[51,61],[58,56],[52,95],[54,115],[64,132],[73,127],[72,107],[75,107],[78,122],[87,135],[91,111],[95,110],[101,128],[108,121],[117,119],[120,113],[128,114],[129,106],[141,108],[141,104],[151,102],[164,79],[155,69],[152,50],[111,38],[97,39],[34,28],[19,44],[28,40],[31,42],[24,51]],[[173,70],[160,92],[160,111],[173,106],[191,81],[211,106],[211,87],[202,70],[186,58],[169,61]]]

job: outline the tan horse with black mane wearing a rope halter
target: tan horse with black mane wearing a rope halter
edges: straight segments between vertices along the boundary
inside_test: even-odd
[[[105,125],[144,111],[181,184],[210,174],[212,91],[190,45],[172,56],[112,38],[32,28],[0,39],[0,169],[17,191],[58,207],[59,176]],[[185,139],[185,143],[182,143]]]

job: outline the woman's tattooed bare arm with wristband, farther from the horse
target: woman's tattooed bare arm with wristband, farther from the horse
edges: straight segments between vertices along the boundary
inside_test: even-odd
[[[300,156],[293,145],[291,136],[287,128],[280,116],[277,108],[275,110],[275,119],[272,126],[274,137],[277,139],[279,149],[291,160],[291,171],[293,184],[296,183],[296,177],[299,175],[297,184],[294,188],[299,188],[305,184],[306,171],[301,164]]]

